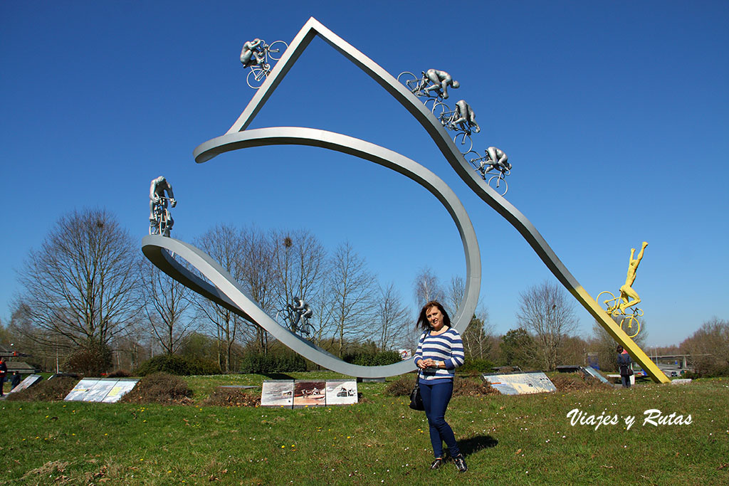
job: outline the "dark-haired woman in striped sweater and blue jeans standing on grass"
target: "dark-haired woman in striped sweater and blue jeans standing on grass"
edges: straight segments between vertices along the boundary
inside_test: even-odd
[[[425,415],[430,427],[430,442],[433,444],[435,460],[430,469],[443,465],[443,442],[456,463],[459,472],[468,471],[463,454],[456,443],[451,426],[445,421],[445,409],[453,395],[455,369],[464,362],[461,334],[451,327],[451,318],[440,302],[428,302],[418,316],[418,327],[423,329],[415,364],[420,369],[418,380],[423,397]]]

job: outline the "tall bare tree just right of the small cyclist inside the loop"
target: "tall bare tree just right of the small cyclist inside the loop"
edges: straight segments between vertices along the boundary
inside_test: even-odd
[[[348,336],[361,336],[374,317],[370,306],[375,294],[373,277],[364,259],[348,243],[342,243],[331,261],[330,307],[334,325],[333,340],[338,340],[340,356]]]

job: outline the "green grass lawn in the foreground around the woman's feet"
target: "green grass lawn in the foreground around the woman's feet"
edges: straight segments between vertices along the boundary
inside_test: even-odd
[[[201,404],[219,385],[264,379],[189,377],[194,406],[0,401],[0,484],[729,484],[726,378],[455,397],[446,419],[467,454],[465,474],[452,464],[427,469],[425,415],[410,410],[405,397],[386,396],[384,383],[359,383],[362,401],[351,406]],[[619,422],[572,426],[572,409],[618,415]],[[691,415],[691,423],[644,425],[649,409]],[[629,429],[628,415],[635,417]]]

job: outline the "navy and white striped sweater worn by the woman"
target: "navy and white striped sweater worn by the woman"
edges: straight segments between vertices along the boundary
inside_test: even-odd
[[[417,365],[418,361],[427,358],[445,362],[445,369],[421,369],[421,382],[438,383],[453,380],[453,377],[456,375],[456,368],[464,363],[465,358],[461,334],[452,327],[437,336],[432,336],[430,331],[421,334],[420,340],[418,341],[418,350],[416,350],[413,361]]]

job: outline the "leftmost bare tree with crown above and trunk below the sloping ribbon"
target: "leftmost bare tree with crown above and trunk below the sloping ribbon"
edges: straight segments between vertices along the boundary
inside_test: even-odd
[[[198,238],[197,246],[206,251],[235,281],[243,280],[242,257],[245,251],[240,232],[227,224],[218,224]],[[233,359],[233,344],[238,331],[243,325],[243,319],[225,307],[198,297],[195,299],[198,313],[214,325],[218,342],[222,343],[222,353],[218,355],[220,368],[226,373],[231,371]]]

